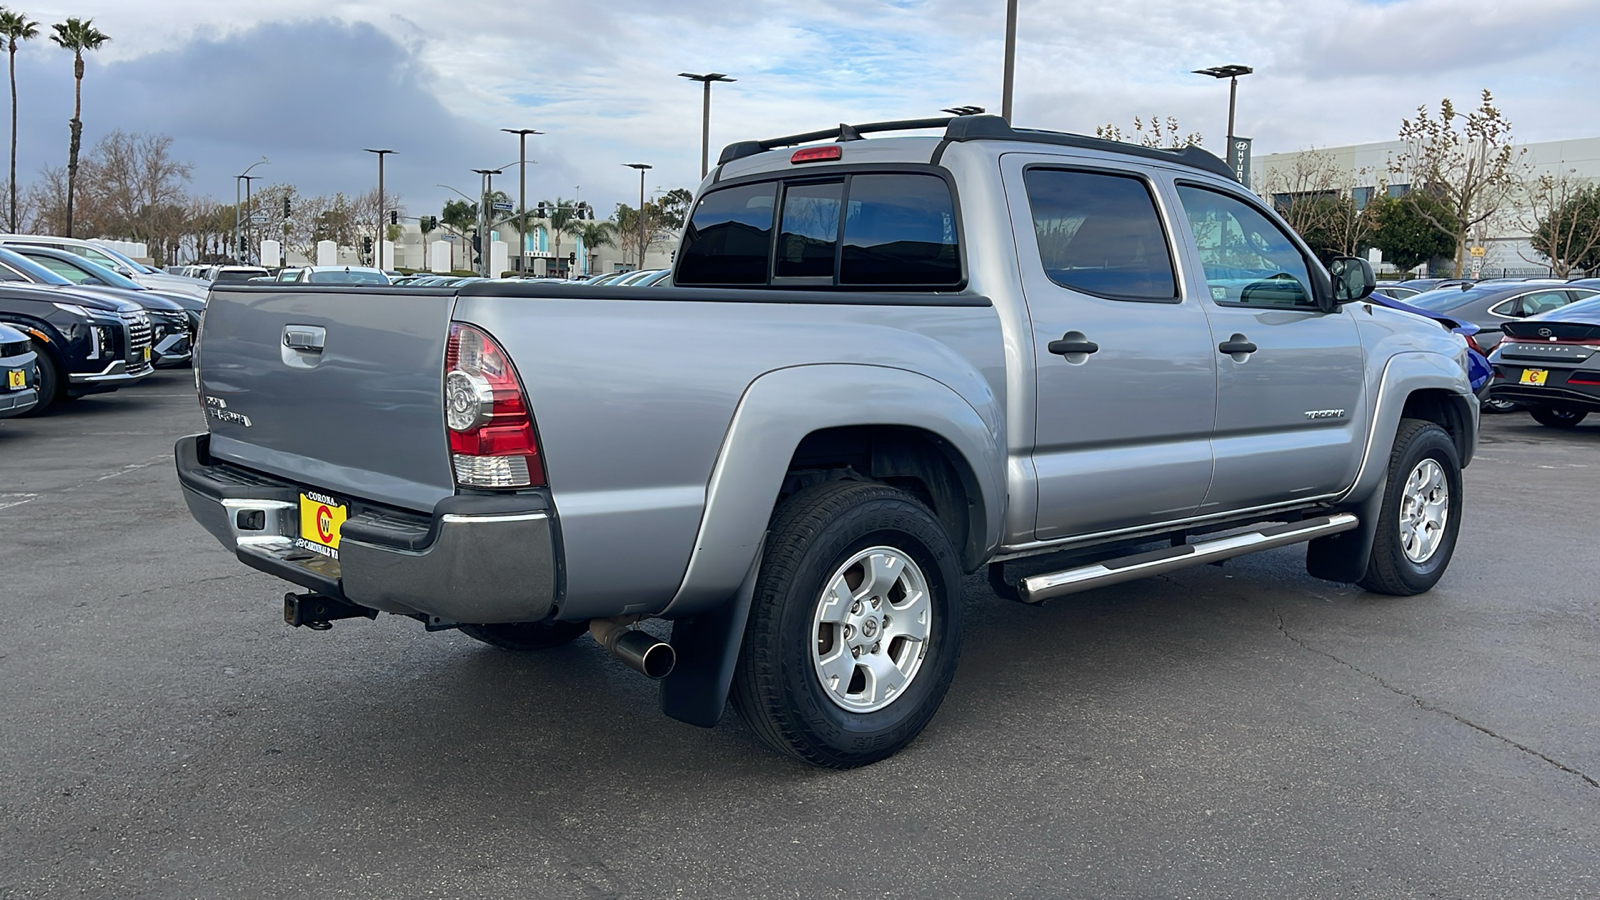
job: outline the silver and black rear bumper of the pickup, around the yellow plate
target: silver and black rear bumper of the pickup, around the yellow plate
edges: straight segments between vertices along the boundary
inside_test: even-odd
[[[240,562],[363,607],[430,623],[541,621],[560,599],[555,508],[544,493],[446,496],[430,514],[352,500],[336,557],[299,540],[299,495],[320,490],[176,447],[189,512]]]

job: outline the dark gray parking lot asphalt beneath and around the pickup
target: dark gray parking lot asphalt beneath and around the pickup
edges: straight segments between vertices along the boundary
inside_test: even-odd
[[[1600,895],[1600,423],[1486,416],[1419,597],[971,578],[942,711],[853,772],[587,637],[286,628],[179,498],[202,428],[189,372],[0,421],[0,898]]]

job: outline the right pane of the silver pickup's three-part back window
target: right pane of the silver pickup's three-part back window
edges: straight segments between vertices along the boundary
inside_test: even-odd
[[[955,203],[942,178],[858,175],[845,210],[842,285],[957,285]]]

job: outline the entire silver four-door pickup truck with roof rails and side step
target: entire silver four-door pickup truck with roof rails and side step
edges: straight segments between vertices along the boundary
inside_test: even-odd
[[[587,631],[669,716],[731,697],[832,767],[934,714],[965,573],[1042,602],[1307,543],[1416,594],[1454,549],[1464,343],[1198,149],[982,115],[733,144],[674,285],[214,287],[184,498],[302,589],[291,625]]]

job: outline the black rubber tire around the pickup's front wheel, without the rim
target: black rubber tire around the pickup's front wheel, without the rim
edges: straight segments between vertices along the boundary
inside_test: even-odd
[[[1402,503],[1406,496],[1406,480],[1426,461],[1432,460],[1443,469],[1446,493],[1445,522],[1438,544],[1429,556],[1414,560],[1406,556],[1402,528]],[[1366,573],[1357,585],[1374,594],[1410,597],[1430,589],[1445,575],[1456,552],[1456,535],[1461,532],[1461,455],[1456,442],[1443,428],[1422,420],[1400,420],[1394,450],[1389,453],[1389,479],[1373,536],[1373,554],[1366,560]]]

